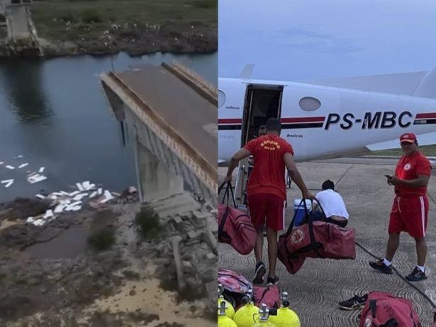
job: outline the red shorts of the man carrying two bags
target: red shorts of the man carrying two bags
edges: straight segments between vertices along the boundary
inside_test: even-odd
[[[281,231],[284,229],[284,209],[286,201],[276,194],[262,193],[247,196],[248,209],[253,225],[260,230],[265,224],[274,229]]]

